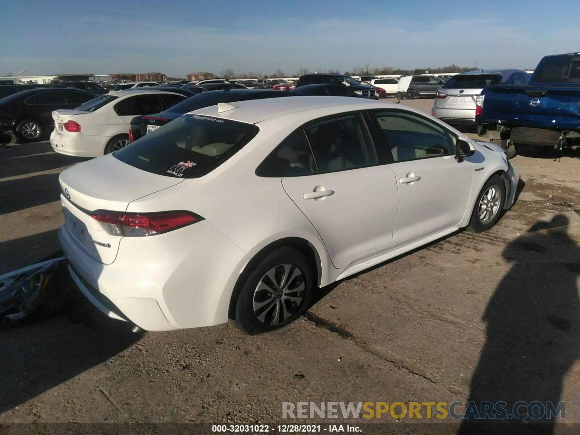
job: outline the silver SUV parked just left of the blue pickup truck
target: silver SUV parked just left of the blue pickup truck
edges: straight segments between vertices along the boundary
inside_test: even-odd
[[[431,114],[452,125],[475,125],[476,98],[487,85],[527,85],[522,70],[483,70],[457,74],[437,90]]]

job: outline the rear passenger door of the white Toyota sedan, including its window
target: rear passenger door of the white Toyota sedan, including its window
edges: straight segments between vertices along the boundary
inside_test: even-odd
[[[393,246],[397,185],[376,165],[360,114],[307,125],[276,150],[282,186],[316,228],[336,268]]]

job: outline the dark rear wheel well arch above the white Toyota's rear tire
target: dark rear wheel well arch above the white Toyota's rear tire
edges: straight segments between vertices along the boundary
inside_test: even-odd
[[[314,273],[314,281],[317,283],[318,287],[320,287],[320,280],[322,277],[322,266],[320,261],[320,256],[316,249],[305,239],[300,237],[286,237],[280,240],[276,240],[275,242],[270,243],[269,245],[265,246],[264,248],[260,249],[256,255],[249,260],[248,264],[244,267],[244,270],[240,274],[240,277],[235,282],[234,291],[231,293],[230,298],[230,307],[228,310],[228,317],[233,319],[235,318],[235,305],[238,302],[238,296],[240,295],[242,287],[244,287],[245,281],[248,279],[249,274],[252,273],[252,270],[264,259],[266,256],[273,251],[276,251],[278,248],[282,247],[289,247],[296,249],[302,253],[306,260],[310,263]]]

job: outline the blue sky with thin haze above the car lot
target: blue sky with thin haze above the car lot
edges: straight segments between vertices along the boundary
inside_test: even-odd
[[[8,1],[0,73],[533,68],[580,50],[579,15],[578,0]]]

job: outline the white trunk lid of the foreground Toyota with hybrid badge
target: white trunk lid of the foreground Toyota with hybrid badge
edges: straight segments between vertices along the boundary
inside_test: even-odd
[[[129,202],[181,182],[133,168],[112,154],[75,165],[59,176],[64,226],[91,258],[111,264],[117,258],[122,237],[108,234],[90,212],[123,212]]]

